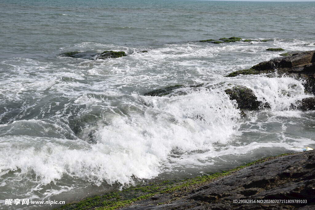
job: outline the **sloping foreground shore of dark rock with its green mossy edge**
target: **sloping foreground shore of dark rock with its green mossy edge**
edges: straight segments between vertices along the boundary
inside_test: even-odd
[[[315,150],[257,160],[227,172],[166,180],[58,209],[314,209]]]

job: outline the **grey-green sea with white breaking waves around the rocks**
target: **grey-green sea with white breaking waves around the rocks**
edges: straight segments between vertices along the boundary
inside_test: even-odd
[[[314,10],[315,2],[1,1],[0,209],[51,209],[58,205],[4,200],[68,203],[314,148],[315,112],[289,109],[310,96],[303,81],[224,77],[279,57],[266,48],[315,50]],[[268,41],[197,42],[232,36]],[[104,50],[128,56],[60,56]],[[144,96],[177,84],[169,96]],[[271,109],[241,118],[229,84]]]

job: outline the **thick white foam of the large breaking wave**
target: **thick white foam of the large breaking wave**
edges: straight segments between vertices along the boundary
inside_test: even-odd
[[[212,143],[228,141],[238,127],[239,111],[224,95],[203,90],[182,97],[145,97],[152,106],[143,115],[112,118],[110,125],[95,133],[95,145],[2,137],[1,169],[20,168],[22,174],[33,171],[42,184],[61,179],[65,173],[98,185],[103,181],[127,184],[133,176],[153,178],[173,150],[208,150]],[[202,119],[193,119],[195,114]]]

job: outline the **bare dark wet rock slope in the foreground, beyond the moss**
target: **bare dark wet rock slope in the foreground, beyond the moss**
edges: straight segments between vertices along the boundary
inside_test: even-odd
[[[173,202],[167,194],[156,195],[123,209],[314,209],[314,195],[311,150],[246,167]]]

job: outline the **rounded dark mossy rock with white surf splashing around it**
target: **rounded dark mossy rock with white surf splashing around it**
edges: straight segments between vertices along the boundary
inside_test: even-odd
[[[262,105],[254,92],[245,86],[235,86],[225,90],[231,100],[236,100],[239,109],[258,110]]]

